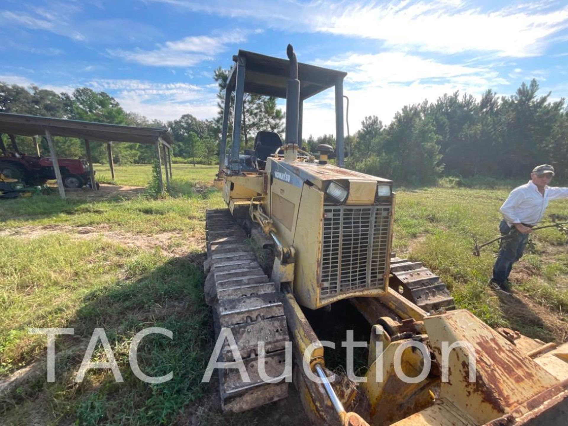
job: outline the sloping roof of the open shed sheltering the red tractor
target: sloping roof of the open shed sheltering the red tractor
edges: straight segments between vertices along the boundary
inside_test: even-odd
[[[52,136],[78,137],[79,139],[154,144],[157,138],[168,147],[172,135],[165,127],[134,127],[119,124],[83,122],[35,115],[0,112],[0,132],[9,135],[43,135],[48,128]]]

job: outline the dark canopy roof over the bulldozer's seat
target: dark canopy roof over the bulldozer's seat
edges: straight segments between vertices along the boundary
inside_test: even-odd
[[[239,57],[246,60],[245,93],[286,98],[286,83],[290,78],[290,61],[273,56],[239,50]],[[236,59],[236,57],[233,57]],[[231,69],[227,89],[235,90],[236,66]],[[347,73],[298,62],[300,99],[320,93],[343,80]]]

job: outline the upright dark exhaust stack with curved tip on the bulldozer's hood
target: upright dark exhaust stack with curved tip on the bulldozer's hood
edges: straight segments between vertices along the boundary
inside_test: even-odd
[[[291,44],[286,48],[290,60],[290,78],[286,84],[286,148],[284,161],[295,161],[298,155],[298,127],[300,111],[300,81],[298,60]]]

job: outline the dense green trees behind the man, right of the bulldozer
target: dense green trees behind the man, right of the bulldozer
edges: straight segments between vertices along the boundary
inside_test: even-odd
[[[476,99],[456,92],[436,102],[405,106],[385,126],[367,116],[352,140],[346,166],[420,185],[440,176],[528,178],[538,164],[552,164],[568,178],[568,115],[564,99],[538,95],[538,83],[522,83],[498,97]]]

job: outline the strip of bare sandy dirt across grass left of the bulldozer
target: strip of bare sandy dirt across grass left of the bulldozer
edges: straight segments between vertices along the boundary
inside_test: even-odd
[[[145,250],[160,248],[166,256],[186,256],[190,252],[203,251],[205,249],[205,236],[203,232],[195,232],[190,236],[183,237],[179,232],[161,232],[152,235],[128,233],[124,231],[110,230],[108,225],[96,227],[69,225],[43,225],[25,226],[17,229],[3,229],[0,236],[17,237],[21,239],[33,239],[52,233],[64,232],[77,239],[93,239],[103,237],[115,241],[127,247],[136,247]]]

